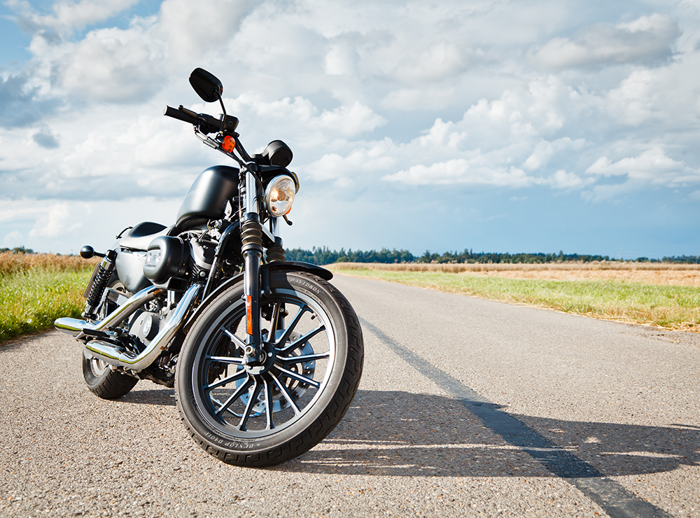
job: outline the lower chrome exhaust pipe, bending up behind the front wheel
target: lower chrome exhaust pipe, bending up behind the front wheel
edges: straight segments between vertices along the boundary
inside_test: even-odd
[[[109,365],[116,365],[137,371],[145,369],[155,361],[155,358],[160,356],[160,353],[167,347],[170,340],[175,336],[175,333],[181,328],[185,318],[190,312],[193,302],[200,295],[201,290],[202,285],[200,284],[190,286],[185,292],[185,295],[183,295],[182,300],[177,304],[175,311],[165,324],[165,327],[160,330],[146,349],[138,355],[116,344],[104,342],[104,340],[99,339],[87,342],[84,352],[87,356],[103,360],[105,363],[109,363]]]

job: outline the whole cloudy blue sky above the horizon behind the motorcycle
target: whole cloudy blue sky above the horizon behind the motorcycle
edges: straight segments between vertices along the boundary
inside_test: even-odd
[[[2,0],[0,248],[174,223],[197,67],[294,152],[287,248],[700,255],[700,0]]]

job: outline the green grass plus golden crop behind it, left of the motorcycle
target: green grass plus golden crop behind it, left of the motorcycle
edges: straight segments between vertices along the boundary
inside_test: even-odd
[[[93,268],[63,255],[0,253],[0,344],[79,317]]]

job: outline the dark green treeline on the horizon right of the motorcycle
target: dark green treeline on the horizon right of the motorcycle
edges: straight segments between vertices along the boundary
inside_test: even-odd
[[[517,262],[532,264],[535,262],[591,262],[591,261],[616,261],[608,255],[587,255],[578,253],[487,253],[475,252],[465,249],[462,252],[431,253],[429,250],[423,255],[413,255],[407,250],[388,250],[381,248],[380,251],[370,250],[348,250],[341,248],[340,251],[329,250],[327,247],[312,248],[303,250],[302,248],[292,248],[286,251],[287,260],[311,262],[314,265],[330,265],[333,262]],[[679,264],[699,264],[700,256],[682,255],[680,257],[664,257],[663,259],[649,259],[640,257],[638,262],[673,262]]]

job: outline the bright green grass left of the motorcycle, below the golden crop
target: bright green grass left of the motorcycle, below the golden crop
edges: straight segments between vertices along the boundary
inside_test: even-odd
[[[0,276],[0,344],[53,327],[59,316],[79,317],[93,265],[78,271],[34,268]]]

